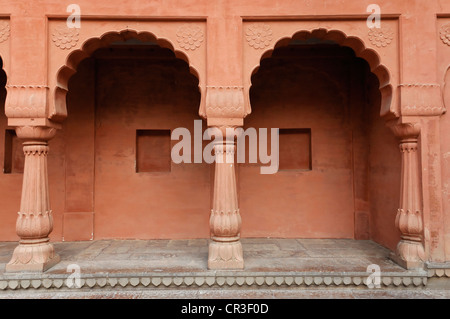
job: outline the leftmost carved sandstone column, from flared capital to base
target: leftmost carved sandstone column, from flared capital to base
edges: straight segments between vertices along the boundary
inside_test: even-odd
[[[53,218],[48,192],[47,154],[48,141],[55,136],[56,129],[22,126],[16,128],[16,133],[23,140],[25,153],[22,199],[16,222],[20,241],[6,265],[6,271],[42,272],[60,260],[48,237],[53,230]]]

